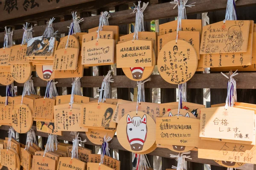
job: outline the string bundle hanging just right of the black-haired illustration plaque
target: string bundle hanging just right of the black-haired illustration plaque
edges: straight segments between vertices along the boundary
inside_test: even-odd
[[[76,34],[77,32],[81,32],[79,23],[81,23],[82,21],[84,21],[84,18],[81,18],[76,14],[76,12],[72,12],[72,23],[70,24],[69,27],[69,31],[68,31],[68,37],[67,37],[67,43],[66,43],[66,49],[68,47],[68,41],[69,41],[69,37],[70,35]]]

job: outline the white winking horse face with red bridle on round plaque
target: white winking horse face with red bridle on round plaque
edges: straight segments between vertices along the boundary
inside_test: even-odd
[[[140,116],[127,115],[126,134],[131,150],[140,151],[147,138],[147,116],[141,118]]]

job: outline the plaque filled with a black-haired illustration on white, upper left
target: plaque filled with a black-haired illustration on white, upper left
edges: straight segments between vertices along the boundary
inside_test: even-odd
[[[55,47],[54,37],[34,37],[28,40],[26,57],[52,57]]]

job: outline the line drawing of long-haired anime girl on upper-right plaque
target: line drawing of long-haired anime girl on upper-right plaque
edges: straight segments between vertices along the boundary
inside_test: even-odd
[[[244,42],[240,26],[235,25],[228,28],[228,39],[226,47],[223,48],[225,52],[241,51],[241,46]]]

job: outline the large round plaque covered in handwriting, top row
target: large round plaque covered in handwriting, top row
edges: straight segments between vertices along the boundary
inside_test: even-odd
[[[195,74],[198,57],[195,48],[184,40],[172,40],[163,46],[158,58],[158,71],[166,82],[182,84]]]

